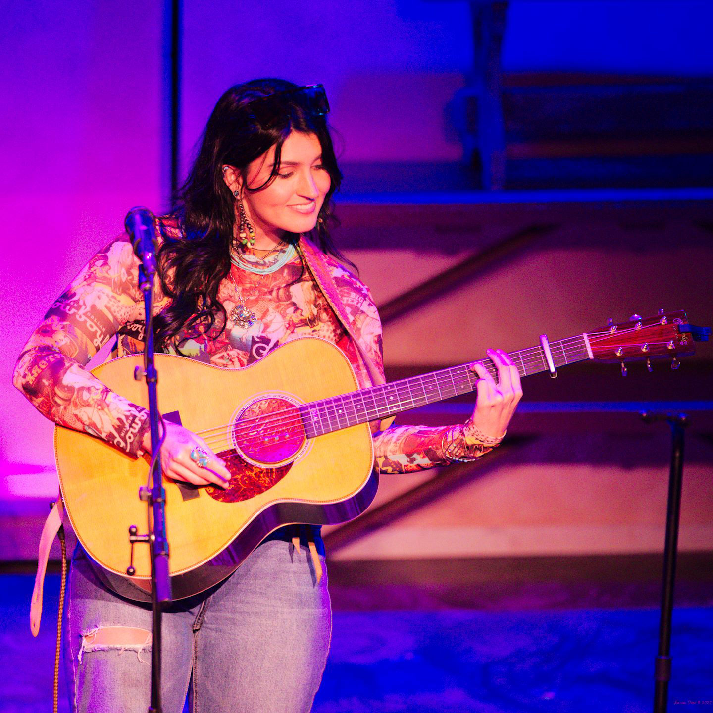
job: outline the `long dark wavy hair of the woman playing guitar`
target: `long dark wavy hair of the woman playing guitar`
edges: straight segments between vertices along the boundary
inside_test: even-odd
[[[324,116],[310,111],[297,85],[282,79],[257,79],[237,84],[218,99],[200,140],[198,156],[188,178],[173,198],[171,216],[178,222],[180,235],[162,227],[163,244],[158,252],[161,287],[170,297],[170,306],[154,319],[156,342],[164,348],[175,341],[179,332],[209,332],[220,322],[219,336],[225,329],[226,314],[217,299],[218,286],[230,272],[230,247],[234,241],[235,198],[225,185],[222,167],[230,165],[242,175],[247,166],[273,145],[275,165],[267,188],[279,173],[282,144],[292,131],[312,133],[322,146],[322,165],[332,179],[317,226],[309,236],[340,260],[344,256],[334,247],[329,226],[334,225],[332,195],[339,188],[342,173],[337,167],[332,137]],[[262,126],[246,108],[250,101],[273,96],[270,106],[277,107],[277,120]],[[288,233],[284,240],[296,244],[299,235]],[[349,262],[347,260],[347,262]],[[302,268],[304,270],[304,266]],[[217,317],[222,319],[217,320]],[[180,343],[175,345],[180,350]]]

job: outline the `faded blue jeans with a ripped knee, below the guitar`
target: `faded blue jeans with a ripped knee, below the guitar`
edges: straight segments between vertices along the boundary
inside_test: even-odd
[[[68,594],[64,660],[71,711],[145,713],[150,605],[108,590],[81,548]],[[114,627],[134,630],[130,643]],[[285,540],[267,540],[217,588],[164,612],[163,711],[181,713],[187,696],[193,713],[309,711],[331,632],[326,568],[317,583],[306,544],[294,550]]]

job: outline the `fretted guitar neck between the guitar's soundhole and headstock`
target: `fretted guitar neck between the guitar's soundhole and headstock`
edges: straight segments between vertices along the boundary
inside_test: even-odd
[[[591,358],[585,334],[562,339],[560,342],[550,342],[549,345],[553,364],[558,369]],[[548,371],[547,356],[540,345],[510,352],[508,356],[517,367],[520,378]],[[497,380],[495,364],[487,358],[483,359],[482,363]],[[308,438],[313,438],[367,421],[387,419],[417,406],[435,404],[453,396],[469,394],[475,391],[478,378],[470,364],[461,364],[401,381],[391,381],[382,386],[353,391],[351,394],[334,396],[331,399],[312,401],[300,406],[299,412],[305,434]]]

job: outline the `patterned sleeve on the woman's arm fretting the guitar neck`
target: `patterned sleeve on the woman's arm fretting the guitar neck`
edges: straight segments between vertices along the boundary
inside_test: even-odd
[[[368,291],[354,320],[354,332],[383,374],[381,320]],[[376,470],[379,473],[414,473],[461,460],[458,457],[448,458],[444,453],[444,446],[448,447],[444,440],[448,442],[451,429],[451,426],[390,426],[378,431],[374,434]],[[473,460],[492,448],[471,442],[463,443],[461,450],[463,452],[459,454],[466,456],[463,460]]]

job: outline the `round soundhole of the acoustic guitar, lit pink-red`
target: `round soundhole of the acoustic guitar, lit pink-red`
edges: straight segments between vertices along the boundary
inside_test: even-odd
[[[245,460],[275,466],[299,453],[305,441],[297,406],[279,396],[254,401],[237,417],[233,443]]]

